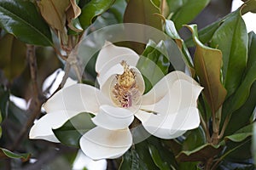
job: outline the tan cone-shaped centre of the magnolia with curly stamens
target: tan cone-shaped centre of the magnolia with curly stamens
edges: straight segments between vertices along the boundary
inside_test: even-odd
[[[120,63],[124,67],[122,75],[116,75],[117,82],[113,86],[113,102],[119,107],[128,108],[137,104],[140,92],[136,83],[136,74],[123,60]]]

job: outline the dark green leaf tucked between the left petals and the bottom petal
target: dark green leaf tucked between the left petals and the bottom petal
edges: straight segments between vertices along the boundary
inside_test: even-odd
[[[80,113],[65,122],[62,127],[53,129],[53,132],[62,144],[79,148],[79,139],[81,136],[91,128],[96,127],[90,118],[89,113]]]

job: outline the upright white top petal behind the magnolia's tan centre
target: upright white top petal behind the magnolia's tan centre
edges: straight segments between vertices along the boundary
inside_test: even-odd
[[[125,60],[127,65],[135,66],[137,65],[138,59],[138,54],[130,48],[118,47],[111,42],[105,42],[105,45],[102,47],[96,59],[97,80],[100,86],[102,86],[102,76],[113,67],[113,65],[117,65],[122,60]]]

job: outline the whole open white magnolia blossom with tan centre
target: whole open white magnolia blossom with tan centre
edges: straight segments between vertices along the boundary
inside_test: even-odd
[[[30,139],[59,142],[52,129],[61,127],[80,112],[95,116],[80,139],[86,156],[98,160],[117,158],[129,150],[129,126],[134,116],[152,135],[174,139],[200,124],[196,101],[202,88],[182,71],[172,71],[144,94],[143,76],[135,67],[139,59],[130,48],[106,42],[96,60],[100,88],[68,80],[44,104],[47,114],[33,125]]]

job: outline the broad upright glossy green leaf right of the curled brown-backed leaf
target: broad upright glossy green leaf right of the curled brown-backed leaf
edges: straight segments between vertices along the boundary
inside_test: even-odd
[[[247,64],[247,29],[241,18],[240,9],[230,14],[212,36],[211,47],[223,54],[223,82],[228,94],[233,94],[241,83]]]

